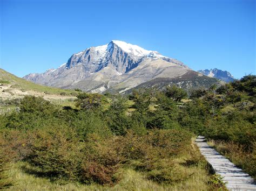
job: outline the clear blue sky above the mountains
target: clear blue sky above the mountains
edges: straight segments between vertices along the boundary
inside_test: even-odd
[[[0,67],[22,77],[123,40],[234,77],[255,74],[255,1],[0,0]]]

